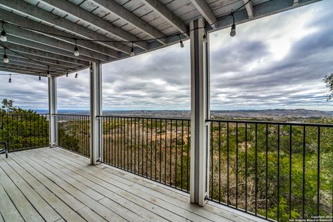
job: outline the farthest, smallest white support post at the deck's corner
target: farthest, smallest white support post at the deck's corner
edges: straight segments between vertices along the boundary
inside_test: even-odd
[[[58,121],[57,121],[57,79],[49,77],[49,139],[50,147],[58,146]]]

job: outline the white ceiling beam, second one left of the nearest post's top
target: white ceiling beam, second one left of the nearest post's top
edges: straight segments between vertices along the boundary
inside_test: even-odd
[[[94,3],[96,3],[99,7],[105,8],[106,10],[112,12],[112,14],[121,17],[121,19],[132,24],[136,28],[139,28],[139,30],[150,35],[151,37],[165,37],[165,35],[158,31],[155,27],[151,26],[147,22],[144,22],[144,20],[140,17],[137,17],[137,15],[133,14],[133,12],[130,12],[114,0],[94,0]],[[166,39],[160,39],[157,41],[162,44],[167,44]]]

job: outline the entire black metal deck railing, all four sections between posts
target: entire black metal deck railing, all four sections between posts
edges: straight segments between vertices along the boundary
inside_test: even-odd
[[[89,157],[90,117],[56,117],[58,145]],[[190,119],[101,116],[99,121],[101,162],[189,192]],[[333,125],[207,123],[207,198],[268,220],[332,215]],[[0,125],[0,141],[9,151],[49,146],[49,114],[0,114]]]

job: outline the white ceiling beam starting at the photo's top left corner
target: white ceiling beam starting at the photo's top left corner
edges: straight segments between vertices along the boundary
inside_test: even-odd
[[[21,12],[28,17],[40,19],[42,22],[46,22],[47,24],[51,24],[52,26],[62,28],[69,33],[78,35],[78,37],[103,41],[111,40],[109,37],[106,37],[92,30],[89,30],[88,28],[70,22],[69,20],[59,17],[58,15],[54,15],[51,12],[42,10],[42,8],[37,8],[36,6],[33,6],[22,0],[10,0],[6,1],[6,3],[0,2],[0,5],[11,10],[15,10],[17,12]],[[99,44],[103,44],[117,51],[122,51],[123,53],[130,54],[131,47],[127,46],[126,44],[121,44],[119,42],[99,42]]]

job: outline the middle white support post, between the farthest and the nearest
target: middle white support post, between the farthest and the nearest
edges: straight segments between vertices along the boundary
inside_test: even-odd
[[[102,112],[102,65],[90,65],[90,160],[97,164],[102,156],[101,122]]]

